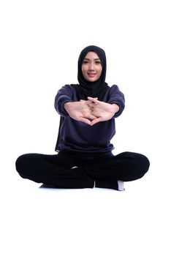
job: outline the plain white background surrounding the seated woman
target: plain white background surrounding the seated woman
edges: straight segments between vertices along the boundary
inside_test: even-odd
[[[1,1],[1,255],[170,255],[170,1]],[[41,189],[20,154],[55,154],[56,92],[87,45],[107,55],[126,109],[114,154],[151,161],[126,191]]]

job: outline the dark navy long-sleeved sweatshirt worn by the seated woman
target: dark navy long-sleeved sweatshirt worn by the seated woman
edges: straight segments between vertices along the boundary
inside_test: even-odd
[[[120,110],[109,121],[102,121],[91,127],[82,121],[74,120],[64,109],[64,103],[80,101],[77,86],[79,85],[63,86],[56,95],[55,108],[61,116],[56,151],[66,149],[94,154],[112,151],[114,146],[110,140],[115,135],[115,118],[120,116],[124,109],[123,93],[116,85],[108,87],[102,101],[116,103]]]

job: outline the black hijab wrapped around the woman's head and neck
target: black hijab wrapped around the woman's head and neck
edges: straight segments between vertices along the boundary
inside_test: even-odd
[[[89,82],[83,77],[82,72],[82,64],[83,60],[86,57],[86,54],[89,51],[94,51],[98,56],[102,64],[102,74],[100,78],[94,82]],[[107,91],[107,83],[105,83],[106,78],[106,55],[102,48],[99,48],[95,45],[89,45],[88,47],[84,48],[79,56],[78,59],[78,72],[77,72],[77,80],[79,82],[78,86],[78,94],[80,99],[87,99],[87,97],[98,97],[98,99],[102,99],[105,91]]]

